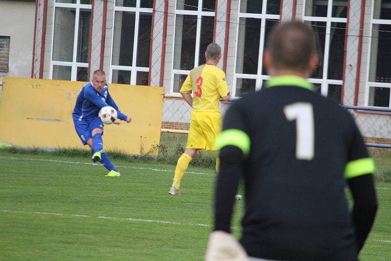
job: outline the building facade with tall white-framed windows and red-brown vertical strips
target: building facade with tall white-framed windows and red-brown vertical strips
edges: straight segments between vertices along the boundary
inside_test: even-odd
[[[176,94],[216,42],[217,66],[239,98],[269,78],[262,66],[268,34],[290,20],[316,33],[321,59],[309,81],[323,95],[390,107],[391,0],[38,0],[32,77],[88,81],[100,68],[111,83]],[[164,106],[163,122],[188,124],[183,101]],[[355,116],[365,136],[391,138],[389,113]]]

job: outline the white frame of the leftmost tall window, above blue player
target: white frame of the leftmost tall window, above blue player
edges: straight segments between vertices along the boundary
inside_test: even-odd
[[[73,62],[62,62],[62,61],[53,61],[53,41],[54,41],[54,21],[56,17],[56,7],[67,7],[76,9],[76,21],[75,21],[75,29],[74,29],[74,39],[73,39]],[[92,4],[81,4],[80,0],[77,0],[76,3],[58,3],[54,0],[53,7],[53,28],[52,28],[52,48],[50,51],[50,70],[49,70],[49,79],[53,79],[53,65],[63,65],[63,66],[72,66],[71,70],[71,81],[76,81],[77,76],[77,67],[87,67],[88,63],[76,63],[77,56],[77,41],[79,36],[79,17],[80,17],[80,9],[90,9],[92,12]],[[92,13],[91,13],[92,18]],[[90,36],[91,37],[91,36]]]

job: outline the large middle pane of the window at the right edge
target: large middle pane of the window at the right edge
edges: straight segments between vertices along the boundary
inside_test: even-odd
[[[390,24],[373,24],[369,82],[391,83],[390,31]]]

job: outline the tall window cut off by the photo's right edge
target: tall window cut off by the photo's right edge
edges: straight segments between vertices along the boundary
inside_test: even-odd
[[[390,107],[391,0],[372,1],[366,105]]]

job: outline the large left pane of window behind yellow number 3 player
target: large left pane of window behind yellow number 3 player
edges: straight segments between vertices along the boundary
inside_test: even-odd
[[[174,69],[193,69],[196,31],[197,16],[176,15]]]

